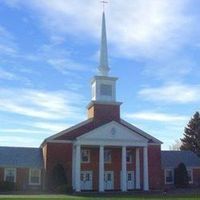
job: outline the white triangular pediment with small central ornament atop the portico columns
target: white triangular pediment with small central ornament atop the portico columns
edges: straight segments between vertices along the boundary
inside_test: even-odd
[[[120,123],[112,121],[100,126],[92,131],[85,133],[77,138],[78,140],[88,141],[112,141],[113,142],[133,142],[147,143],[148,139],[134,132],[133,130],[123,126]]]

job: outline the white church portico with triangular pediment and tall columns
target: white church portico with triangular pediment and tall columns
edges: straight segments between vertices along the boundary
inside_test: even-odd
[[[107,147],[117,147],[121,149],[121,191],[127,191],[127,149],[134,148],[136,156],[135,187],[134,189],[149,189],[148,183],[148,139],[128,129],[127,127],[112,121],[99,128],[96,128],[82,136],[78,137],[73,143],[73,187],[76,192],[81,191],[81,148],[97,147],[99,149],[99,180],[98,190],[103,192],[105,188],[105,163],[104,150]],[[143,149],[143,172],[140,171],[140,153],[139,149]],[[114,171],[114,169],[113,169]],[[141,173],[143,173],[143,188],[141,188]],[[113,175],[115,176],[115,174]],[[91,177],[92,178],[92,177]],[[87,188],[86,188],[87,189]],[[90,188],[93,190],[93,188]],[[115,189],[114,187],[112,188]]]

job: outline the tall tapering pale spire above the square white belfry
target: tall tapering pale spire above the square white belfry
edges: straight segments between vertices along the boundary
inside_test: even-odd
[[[103,11],[102,16],[102,30],[101,30],[101,50],[100,50],[100,65],[99,72],[102,76],[108,76],[110,68],[108,67],[108,50],[107,50],[107,37],[106,37],[106,20]]]

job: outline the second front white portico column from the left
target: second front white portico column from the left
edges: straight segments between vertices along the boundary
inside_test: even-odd
[[[104,146],[99,148],[99,192],[104,192]]]

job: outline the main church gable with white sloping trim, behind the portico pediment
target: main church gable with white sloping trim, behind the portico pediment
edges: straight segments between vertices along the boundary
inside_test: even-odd
[[[43,146],[46,142],[50,142],[53,140],[75,140],[77,137],[84,135],[84,134],[86,134],[98,127],[101,127],[105,124],[108,124],[110,122],[111,121],[108,121],[106,123],[105,122],[101,123],[99,121],[94,120],[94,118],[85,120],[75,126],[72,126],[72,127],[65,129],[53,136],[46,138],[44,140],[44,142],[41,144],[41,146]],[[148,139],[149,143],[162,144],[162,142],[159,141],[158,139],[154,138],[153,136],[147,134],[146,132],[142,131],[141,129],[133,126],[132,124],[130,124],[122,119],[120,121],[115,121],[115,122],[128,128],[129,130],[137,133],[138,135],[144,137],[145,139]]]

